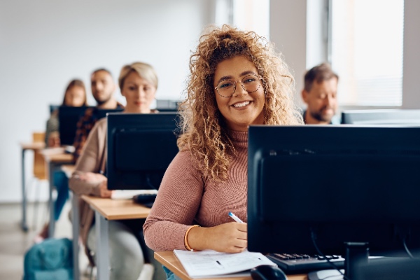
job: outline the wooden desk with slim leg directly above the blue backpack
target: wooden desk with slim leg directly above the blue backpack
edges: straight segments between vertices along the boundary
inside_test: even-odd
[[[64,149],[63,149],[64,151]],[[54,201],[52,200],[52,190],[54,189],[54,171],[61,165],[69,164],[73,162],[73,155],[69,153],[51,153],[51,150],[45,149],[41,151],[45,162],[48,167],[48,181],[49,181],[49,192],[50,196],[48,199],[48,205],[50,208],[50,224],[48,227],[48,237],[54,237],[55,232],[55,218],[54,218]]]

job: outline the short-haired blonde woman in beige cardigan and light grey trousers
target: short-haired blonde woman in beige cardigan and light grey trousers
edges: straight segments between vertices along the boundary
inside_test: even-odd
[[[118,81],[121,94],[127,100],[123,113],[154,113],[150,106],[158,89],[158,76],[151,65],[142,62],[126,65]],[[75,172],[69,180],[71,190],[76,195],[111,197],[112,191],[108,190],[104,176],[105,166],[106,118],[102,118],[94,125],[76,162]],[[94,211],[83,200],[79,200],[79,211],[80,237],[93,264],[91,253],[96,251]],[[109,221],[111,279],[139,278],[144,267],[144,254],[138,240],[141,226],[139,220]]]

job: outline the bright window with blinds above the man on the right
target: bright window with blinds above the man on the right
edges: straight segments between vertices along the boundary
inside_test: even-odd
[[[330,16],[339,104],[401,106],[404,0],[330,0]]]

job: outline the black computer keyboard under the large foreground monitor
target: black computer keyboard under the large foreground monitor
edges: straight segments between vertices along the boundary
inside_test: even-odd
[[[325,255],[338,268],[344,268],[341,255]],[[267,258],[275,262],[286,274],[307,273],[314,270],[333,269],[328,260],[321,255],[296,253],[269,253]]]

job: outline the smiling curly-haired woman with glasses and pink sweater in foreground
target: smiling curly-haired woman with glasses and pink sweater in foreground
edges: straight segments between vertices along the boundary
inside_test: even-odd
[[[180,152],[144,224],[146,244],[153,251],[244,251],[248,126],[302,124],[293,77],[265,38],[228,25],[200,38],[190,72],[179,107]]]

